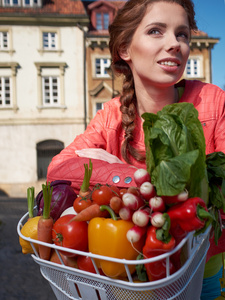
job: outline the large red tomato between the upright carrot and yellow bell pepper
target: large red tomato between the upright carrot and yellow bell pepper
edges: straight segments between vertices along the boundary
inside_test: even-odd
[[[57,246],[74,250],[88,250],[88,224],[87,222],[69,222],[74,215],[60,217],[52,229],[52,240]],[[77,256],[74,253],[60,251],[68,257]]]

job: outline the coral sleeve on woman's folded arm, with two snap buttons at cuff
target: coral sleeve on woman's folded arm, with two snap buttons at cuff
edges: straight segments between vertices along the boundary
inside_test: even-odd
[[[60,154],[53,157],[48,167],[47,181],[70,180],[75,192],[79,191],[84,178],[84,164],[88,164],[89,159],[78,157],[75,150],[85,148],[102,148],[106,150],[106,118],[107,113],[99,111],[86,131],[78,135]],[[96,183],[115,184],[118,187],[134,185],[133,174],[136,168],[126,163],[110,164],[97,159],[92,159],[92,163],[91,187]]]

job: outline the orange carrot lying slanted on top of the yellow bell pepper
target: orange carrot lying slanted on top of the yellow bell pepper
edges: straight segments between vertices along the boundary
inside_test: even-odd
[[[93,218],[97,217],[106,217],[108,216],[107,211],[101,211],[100,205],[97,203],[94,203],[87,208],[83,209],[81,212],[79,212],[75,217],[73,217],[70,222],[72,221],[90,221]]]

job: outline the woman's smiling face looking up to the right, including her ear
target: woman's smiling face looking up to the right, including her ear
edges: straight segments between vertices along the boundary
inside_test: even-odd
[[[184,8],[176,3],[151,4],[131,44],[121,53],[135,85],[167,87],[183,74],[189,56],[190,28]]]

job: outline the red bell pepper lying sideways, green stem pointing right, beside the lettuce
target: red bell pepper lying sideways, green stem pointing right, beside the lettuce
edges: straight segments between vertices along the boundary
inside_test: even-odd
[[[206,221],[212,218],[204,200],[199,197],[189,198],[185,202],[170,207],[167,214],[171,220],[171,229],[179,225],[183,231],[187,232],[203,229]]]

